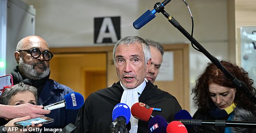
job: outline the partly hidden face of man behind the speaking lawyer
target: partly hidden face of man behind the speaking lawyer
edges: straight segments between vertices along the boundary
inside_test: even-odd
[[[146,74],[146,78],[153,83],[157,78],[157,74],[159,73],[163,57],[161,55],[161,52],[156,47],[149,47],[151,53],[151,64],[149,66],[149,71]]]

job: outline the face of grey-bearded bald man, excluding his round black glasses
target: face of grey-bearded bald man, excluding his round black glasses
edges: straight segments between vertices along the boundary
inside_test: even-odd
[[[24,42],[22,50],[30,50],[32,48],[38,48],[41,53],[48,50],[48,45],[44,40],[37,37],[31,37]],[[26,51],[20,51],[19,59],[19,72],[34,80],[45,78],[50,73],[50,63],[43,59],[43,55],[38,58],[33,58],[30,53]]]

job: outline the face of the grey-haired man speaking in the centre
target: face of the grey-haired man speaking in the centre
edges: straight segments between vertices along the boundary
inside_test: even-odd
[[[139,43],[119,45],[115,60],[117,76],[125,88],[136,88],[144,81],[150,60],[145,65],[144,53]]]

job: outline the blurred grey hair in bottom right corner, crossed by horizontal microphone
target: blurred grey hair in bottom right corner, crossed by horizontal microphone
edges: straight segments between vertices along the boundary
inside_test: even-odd
[[[244,110],[239,107],[235,108],[235,114],[233,117],[234,121],[256,121],[256,112],[255,110]],[[233,127],[232,131],[234,133],[256,133],[256,128],[241,128]]]

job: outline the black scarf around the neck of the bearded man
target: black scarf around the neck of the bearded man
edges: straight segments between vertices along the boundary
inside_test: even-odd
[[[26,84],[26,85],[36,87],[37,88],[37,97],[39,98],[39,96],[40,96],[40,94],[42,92],[42,89],[45,86],[46,81],[50,77],[50,73],[45,78],[42,78],[42,79],[39,79],[39,80],[33,80],[33,79],[30,79],[30,78],[27,78],[27,77],[21,75],[19,70],[18,70],[18,67],[19,66],[16,66],[11,71],[11,74],[13,76],[13,84],[15,85],[15,84],[17,84],[19,82],[24,82],[24,84]]]

